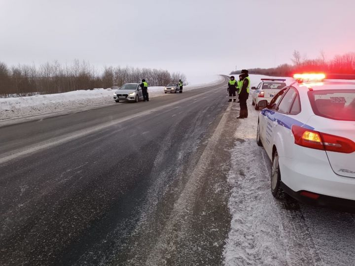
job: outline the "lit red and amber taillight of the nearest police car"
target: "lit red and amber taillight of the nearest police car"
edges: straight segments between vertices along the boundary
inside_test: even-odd
[[[294,136],[294,143],[297,145],[323,151],[355,152],[355,142],[351,139],[320,133],[296,125],[293,125],[291,130]]]

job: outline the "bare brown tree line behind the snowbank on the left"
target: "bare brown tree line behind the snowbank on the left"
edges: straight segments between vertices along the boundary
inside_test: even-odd
[[[71,65],[53,63],[8,67],[0,62],[0,97],[12,95],[62,93],[82,89],[110,88],[146,79],[149,86],[164,86],[169,82],[186,81],[184,74],[168,70],[105,66],[103,71],[86,61],[74,60]]]

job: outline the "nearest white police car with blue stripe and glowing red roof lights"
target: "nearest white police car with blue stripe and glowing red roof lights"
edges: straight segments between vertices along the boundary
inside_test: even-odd
[[[324,80],[324,74],[294,77],[299,80],[270,104],[259,101],[266,108],[256,140],[272,160],[271,192],[354,210],[355,82]]]

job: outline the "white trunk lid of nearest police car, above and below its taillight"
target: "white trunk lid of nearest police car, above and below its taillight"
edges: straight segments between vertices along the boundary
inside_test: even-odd
[[[316,131],[347,138],[355,142],[355,121],[339,121],[312,116],[307,124],[320,125],[316,127]],[[326,154],[329,164],[336,174],[355,178],[355,152],[326,151]]]

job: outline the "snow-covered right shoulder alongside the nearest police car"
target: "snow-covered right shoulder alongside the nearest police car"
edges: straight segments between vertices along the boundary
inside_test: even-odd
[[[260,77],[251,75],[253,86]],[[241,121],[231,150],[232,221],[225,264],[355,265],[354,214],[273,198],[271,163],[256,145],[258,111],[250,98],[248,107],[249,117]]]

